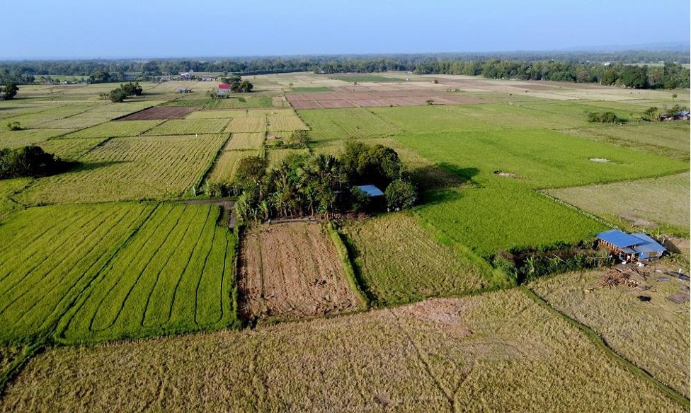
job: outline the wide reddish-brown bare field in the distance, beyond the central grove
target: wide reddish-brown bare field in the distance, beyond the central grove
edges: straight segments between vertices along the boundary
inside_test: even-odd
[[[441,105],[462,105],[483,102],[474,96],[449,93],[445,88],[404,87],[399,89],[367,89],[346,91],[340,88],[324,93],[290,93],[285,95],[295,109],[324,109],[335,107],[384,107],[426,105],[428,100]]]

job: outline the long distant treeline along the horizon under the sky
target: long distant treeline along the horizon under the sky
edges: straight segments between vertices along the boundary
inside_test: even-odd
[[[660,64],[663,62],[664,64]],[[632,88],[688,88],[687,52],[396,54],[246,57],[223,60],[85,60],[0,62],[0,84],[43,83],[47,76],[88,76],[93,83],[147,80],[183,72],[317,74],[410,71],[487,78],[600,83]],[[651,64],[641,65],[641,63]]]

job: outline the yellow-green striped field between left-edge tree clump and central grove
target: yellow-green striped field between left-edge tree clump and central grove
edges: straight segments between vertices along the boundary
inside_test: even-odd
[[[141,136],[106,141],[75,170],[37,180],[25,204],[178,197],[205,174],[226,135]]]

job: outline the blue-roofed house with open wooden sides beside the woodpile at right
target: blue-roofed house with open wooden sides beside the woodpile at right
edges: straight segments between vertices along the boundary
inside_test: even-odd
[[[667,250],[644,233],[627,234],[616,229],[598,233],[598,246],[628,262],[656,260]]]

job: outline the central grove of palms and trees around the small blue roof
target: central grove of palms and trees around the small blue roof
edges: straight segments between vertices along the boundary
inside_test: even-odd
[[[245,221],[307,215],[328,219],[337,212],[367,209],[370,198],[356,186],[365,184],[386,188],[390,209],[410,208],[417,199],[396,151],[349,143],[339,158],[294,155],[269,171],[264,158],[243,158],[235,176],[235,213]]]

